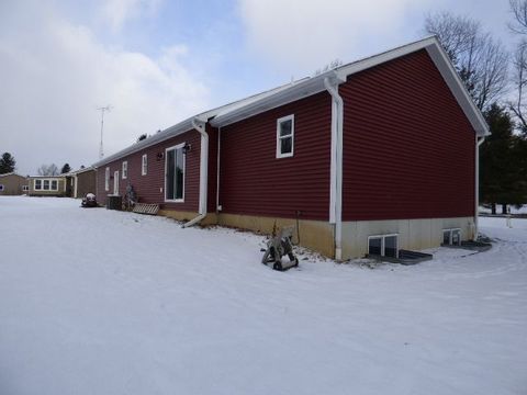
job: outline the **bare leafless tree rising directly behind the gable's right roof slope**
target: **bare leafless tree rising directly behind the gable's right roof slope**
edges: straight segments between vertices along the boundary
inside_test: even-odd
[[[437,35],[480,110],[505,93],[508,54],[478,21],[449,12],[429,14],[425,32]]]

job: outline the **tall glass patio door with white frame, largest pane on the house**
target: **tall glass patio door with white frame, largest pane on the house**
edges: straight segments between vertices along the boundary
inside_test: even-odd
[[[183,202],[184,199],[184,144],[167,148],[165,155],[165,200]]]

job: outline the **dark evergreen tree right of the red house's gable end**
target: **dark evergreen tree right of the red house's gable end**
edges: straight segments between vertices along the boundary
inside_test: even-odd
[[[484,113],[491,136],[480,147],[480,200],[495,205],[520,205],[527,201],[527,142],[513,133],[508,112],[492,104]]]

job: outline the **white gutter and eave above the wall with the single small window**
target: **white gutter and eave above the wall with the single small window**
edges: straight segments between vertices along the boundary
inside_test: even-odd
[[[329,70],[316,77],[284,87],[284,89],[272,92],[271,94],[260,97],[258,100],[244,103],[244,105],[235,108],[231,111],[218,114],[211,121],[211,125],[214,127],[226,126],[245,120],[249,116],[260,114],[265,111],[276,109],[280,105],[284,105],[325,91],[326,88],[324,87],[324,78],[329,78],[337,84],[345,81],[345,79],[341,79],[340,76],[335,72],[335,70]]]

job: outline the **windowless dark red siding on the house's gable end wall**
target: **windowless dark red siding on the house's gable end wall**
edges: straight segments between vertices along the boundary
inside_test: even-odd
[[[344,221],[473,216],[475,134],[425,50],[339,92]]]

